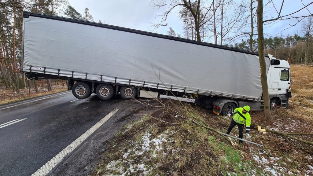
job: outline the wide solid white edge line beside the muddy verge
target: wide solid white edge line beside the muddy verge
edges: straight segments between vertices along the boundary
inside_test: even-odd
[[[89,130],[87,130],[84,134],[78,137],[74,142],[69,144],[66,148],[64,148],[60,153],[55,155],[50,161],[48,161],[45,165],[39,168],[35,173],[31,176],[45,176],[49,173],[56,165],[58,165],[63,158],[69,155],[74,149],[76,149],[82,142],[84,142],[93,132],[95,132],[101,125],[103,125],[107,120],[109,120],[119,108],[114,109],[108,115],[103,117],[99,122],[97,122],[94,126],[92,126]]]

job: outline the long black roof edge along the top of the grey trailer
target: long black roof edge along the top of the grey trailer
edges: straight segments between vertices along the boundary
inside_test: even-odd
[[[58,17],[58,16],[53,16],[53,15],[45,15],[45,14],[39,14],[39,13],[33,13],[33,12],[26,12],[26,11],[23,12],[24,18],[28,18],[29,16],[39,17],[39,18],[48,18],[48,19],[66,21],[66,22],[71,22],[71,23],[85,24],[85,25],[96,26],[96,27],[101,27],[101,28],[115,29],[115,30],[120,30],[120,31],[124,31],[124,32],[136,33],[136,34],[147,35],[147,36],[151,36],[151,37],[158,37],[158,38],[162,38],[162,39],[175,40],[175,41],[191,43],[191,44],[198,44],[198,45],[202,45],[202,46],[208,46],[208,47],[213,47],[213,48],[218,48],[218,49],[225,49],[225,50],[235,51],[235,52],[240,52],[240,53],[245,53],[245,54],[259,55],[258,52],[254,52],[254,51],[238,49],[238,48],[233,48],[233,47],[228,47],[228,46],[222,46],[222,45],[218,45],[218,44],[210,44],[210,43],[206,43],[206,42],[199,42],[196,40],[172,37],[172,36],[168,36],[168,35],[156,34],[156,33],[152,33],[152,32],[136,30],[136,29],[123,28],[123,27],[119,27],[119,26],[100,24],[100,23],[95,23],[95,22],[90,22],[90,21],[65,18],[65,17]],[[264,54],[264,56],[269,58],[268,54]]]

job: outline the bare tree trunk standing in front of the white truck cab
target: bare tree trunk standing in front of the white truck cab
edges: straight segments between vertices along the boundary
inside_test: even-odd
[[[261,70],[261,83],[263,91],[263,100],[264,100],[264,115],[265,120],[270,120],[271,111],[269,105],[269,89],[267,85],[266,77],[266,65],[264,58],[264,32],[263,32],[263,0],[258,0],[258,44],[259,44],[259,61],[260,61],[260,70]]]

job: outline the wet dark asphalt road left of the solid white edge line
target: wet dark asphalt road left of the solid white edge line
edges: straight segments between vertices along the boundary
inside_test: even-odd
[[[122,102],[67,91],[0,107],[0,175],[32,175]]]

